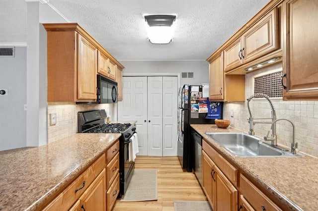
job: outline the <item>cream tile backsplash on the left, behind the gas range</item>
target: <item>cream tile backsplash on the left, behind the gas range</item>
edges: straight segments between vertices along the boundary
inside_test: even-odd
[[[48,104],[48,142],[53,142],[72,134],[78,130],[78,112],[94,109],[105,109],[107,115],[114,117],[116,104],[79,105],[76,103]],[[50,126],[50,113],[56,113],[56,125]]]

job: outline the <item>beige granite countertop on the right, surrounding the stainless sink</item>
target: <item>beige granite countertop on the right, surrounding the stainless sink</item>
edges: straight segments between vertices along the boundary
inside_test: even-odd
[[[305,156],[305,158],[237,158],[205,133],[242,131],[231,127],[222,129],[211,124],[191,124],[191,127],[288,209],[293,211],[316,211],[318,209],[318,158],[310,156]]]

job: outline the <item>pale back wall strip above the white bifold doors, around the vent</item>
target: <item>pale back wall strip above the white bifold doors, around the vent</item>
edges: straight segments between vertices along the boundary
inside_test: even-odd
[[[123,75],[138,73],[178,73],[193,72],[193,79],[181,79],[180,86],[184,84],[200,85],[209,83],[209,63],[202,61],[120,61],[125,66]]]

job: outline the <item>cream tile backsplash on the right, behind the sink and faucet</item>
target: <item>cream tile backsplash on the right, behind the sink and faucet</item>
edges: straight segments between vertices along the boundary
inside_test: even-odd
[[[281,70],[282,64],[275,64],[270,67],[248,73],[245,76],[245,97],[253,94],[253,77],[260,72],[272,70]],[[295,124],[295,141],[298,142],[298,148],[301,152],[314,157],[318,157],[318,101],[283,101],[282,99],[271,100],[278,119],[285,118]],[[270,118],[271,110],[267,100],[253,99],[250,103],[250,109],[254,118]],[[233,110],[233,117],[231,117]],[[247,101],[224,104],[224,119],[231,120],[231,126],[244,132],[248,132],[249,113],[247,110]],[[264,120],[264,121],[270,121]],[[292,125],[287,121],[277,122],[278,144],[290,148],[292,143]],[[255,136],[263,138],[270,130],[270,124],[255,124]],[[271,133],[270,133],[271,134]]]

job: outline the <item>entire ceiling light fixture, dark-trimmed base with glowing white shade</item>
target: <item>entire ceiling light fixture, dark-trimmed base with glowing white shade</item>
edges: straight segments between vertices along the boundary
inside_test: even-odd
[[[145,15],[148,39],[152,44],[169,44],[173,37],[175,15]]]

